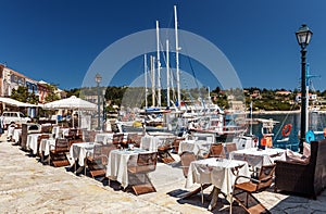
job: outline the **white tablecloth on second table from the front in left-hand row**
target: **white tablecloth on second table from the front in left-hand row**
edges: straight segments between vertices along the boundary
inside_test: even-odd
[[[70,149],[70,156],[72,158],[72,165],[78,160],[79,166],[84,166],[85,159],[88,155],[92,155],[93,147],[98,144],[95,142],[80,142],[80,143],[73,143]]]

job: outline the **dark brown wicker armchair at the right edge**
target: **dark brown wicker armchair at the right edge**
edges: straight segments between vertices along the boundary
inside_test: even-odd
[[[326,140],[311,142],[308,163],[275,161],[275,191],[316,197],[326,188]],[[289,179],[290,178],[290,179]]]

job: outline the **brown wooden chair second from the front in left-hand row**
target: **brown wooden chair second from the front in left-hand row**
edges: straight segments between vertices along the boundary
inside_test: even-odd
[[[112,143],[99,144],[93,148],[93,155],[86,159],[86,164],[92,178],[103,177],[105,178],[106,165],[109,162],[109,154],[116,147]]]

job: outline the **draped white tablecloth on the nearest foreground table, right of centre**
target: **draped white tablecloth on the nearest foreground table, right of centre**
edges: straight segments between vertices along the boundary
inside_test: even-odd
[[[230,202],[233,185],[236,180],[236,175],[233,174],[231,168],[243,165],[239,169],[239,175],[250,176],[248,163],[244,161],[221,159],[203,159],[191,162],[186,180],[186,188],[190,188],[195,182],[197,184],[212,184],[227,196]],[[239,181],[241,181],[239,179]]]

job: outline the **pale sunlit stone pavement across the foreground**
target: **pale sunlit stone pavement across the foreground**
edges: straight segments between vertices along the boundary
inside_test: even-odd
[[[229,213],[221,196],[217,207],[208,211],[210,188],[200,194],[179,200],[185,178],[177,164],[159,163],[151,173],[156,192],[135,196],[66,167],[41,164],[11,142],[0,142],[0,213]],[[273,188],[256,197],[272,213],[326,213],[326,191],[317,200],[274,193]],[[244,213],[239,206],[234,213]]]

